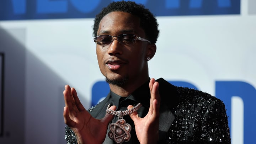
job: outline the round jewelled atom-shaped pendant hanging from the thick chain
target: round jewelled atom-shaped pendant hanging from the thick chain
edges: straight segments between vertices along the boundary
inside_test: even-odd
[[[132,127],[129,123],[126,123],[124,119],[118,119],[116,123],[111,123],[109,128],[110,132],[108,132],[108,137],[117,144],[122,144],[130,140]]]

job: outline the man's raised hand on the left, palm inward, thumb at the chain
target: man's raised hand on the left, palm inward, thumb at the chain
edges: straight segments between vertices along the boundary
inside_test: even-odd
[[[63,91],[65,107],[64,121],[74,131],[78,144],[102,144],[105,140],[107,127],[114,118],[111,114],[106,114],[102,119],[95,119],[81,104],[75,89],[65,86]],[[111,106],[111,110],[116,110],[116,106]]]

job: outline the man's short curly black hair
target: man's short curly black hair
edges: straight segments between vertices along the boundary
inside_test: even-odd
[[[97,31],[100,25],[102,18],[109,14],[110,12],[121,11],[128,12],[132,15],[135,15],[140,18],[140,27],[144,30],[146,38],[152,43],[156,43],[159,30],[158,22],[156,21],[155,16],[146,9],[142,4],[136,4],[133,1],[117,1],[110,3],[107,7],[104,7],[102,11],[96,15],[94,19],[93,34],[94,37],[97,36]]]

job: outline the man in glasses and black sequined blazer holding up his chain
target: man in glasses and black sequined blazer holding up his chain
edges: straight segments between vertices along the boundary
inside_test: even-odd
[[[148,60],[156,52],[159,30],[148,9],[112,2],[96,16],[93,29],[110,93],[87,111],[75,89],[65,86],[67,143],[230,143],[222,101],[149,78]]]

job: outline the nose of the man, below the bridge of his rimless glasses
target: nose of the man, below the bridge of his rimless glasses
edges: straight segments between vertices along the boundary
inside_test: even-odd
[[[115,41],[116,40],[116,41]],[[110,47],[107,49],[109,55],[122,55],[123,48],[117,38],[113,38]]]

